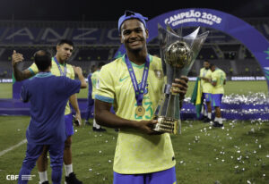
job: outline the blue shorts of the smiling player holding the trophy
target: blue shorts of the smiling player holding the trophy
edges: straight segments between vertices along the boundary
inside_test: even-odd
[[[177,184],[175,167],[145,174],[119,174],[114,171],[113,184]]]

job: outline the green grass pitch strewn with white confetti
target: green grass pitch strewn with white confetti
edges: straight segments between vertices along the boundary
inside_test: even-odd
[[[12,98],[12,84],[0,84],[0,98]],[[194,82],[189,82],[187,96]],[[248,92],[268,93],[265,81],[229,81],[226,95]],[[79,98],[87,96],[82,89]],[[7,175],[16,175],[22,166],[26,144],[1,155],[25,138],[30,117],[0,116],[0,183],[13,184]],[[75,128],[73,137],[73,165],[77,178],[83,183],[112,183],[113,159],[117,132],[96,133],[91,126]],[[268,184],[269,183],[269,122],[225,121],[224,129],[214,129],[201,121],[183,121],[182,134],[171,136],[176,156],[177,179],[180,184]],[[64,183],[64,173],[63,180]],[[37,168],[31,172],[37,184]],[[50,168],[48,179],[50,180]]]

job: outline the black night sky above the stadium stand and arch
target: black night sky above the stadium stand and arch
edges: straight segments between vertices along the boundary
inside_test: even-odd
[[[158,2],[162,2],[162,4]],[[269,17],[269,0],[0,0],[0,20],[28,21],[117,21],[131,10],[153,17],[184,8],[209,8],[239,18]],[[151,2],[151,3],[150,3]]]

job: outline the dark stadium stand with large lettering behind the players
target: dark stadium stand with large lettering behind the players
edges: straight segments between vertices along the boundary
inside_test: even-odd
[[[245,20],[269,38],[269,19]],[[177,29],[187,35],[195,28]],[[190,76],[199,73],[205,59],[215,63],[228,76],[263,76],[255,57],[238,40],[215,29],[210,30],[195,62]],[[13,50],[22,53],[28,67],[32,55],[39,49],[55,53],[56,41],[60,38],[72,39],[75,44],[70,63],[82,67],[85,76],[92,64],[108,62],[120,46],[117,22],[85,21],[0,21],[0,78],[11,78],[11,54]],[[158,38],[148,43],[149,53],[159,55]]]

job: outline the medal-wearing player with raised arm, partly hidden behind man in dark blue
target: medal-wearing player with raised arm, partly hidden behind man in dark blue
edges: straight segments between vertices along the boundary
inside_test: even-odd
[[[74,50],[74,43],[68,39],[60,40],[56,45],[56,55],[51,58],[51,73],[56,76],[65,76],[70,79],[74,79],[74,70],[72,65],[68,64],[67,61],[71,57]],[[20,71],[17,67],[17,63],[23,61],[23,55],[14,52],[13,53],[13,74],[16,80],[29,79],[38,73],[38,67],[33,63],[28,69]],[[76,112],[75,118],[82,122],[80,109],[77,103],[77,97],[74,94],[69,97],[70,104],[74,107]],[[73,115],[69,105],[69,102],[66,103],[65,107],[65,130],[67,138],[65,140],[65,151],[64,151],[64,163],[65,163],[65,181],[67,184],[82,184],[80,180],[77,180],[73,171],[72,163],[72,135],[74,135],[73,128]],[[38,169],[39,169],[39,179],[40,182],[48,180],[47,177],[47,167],[48,167],[48,158],[46,152],[43,155],[40,155],[38,160]]]

